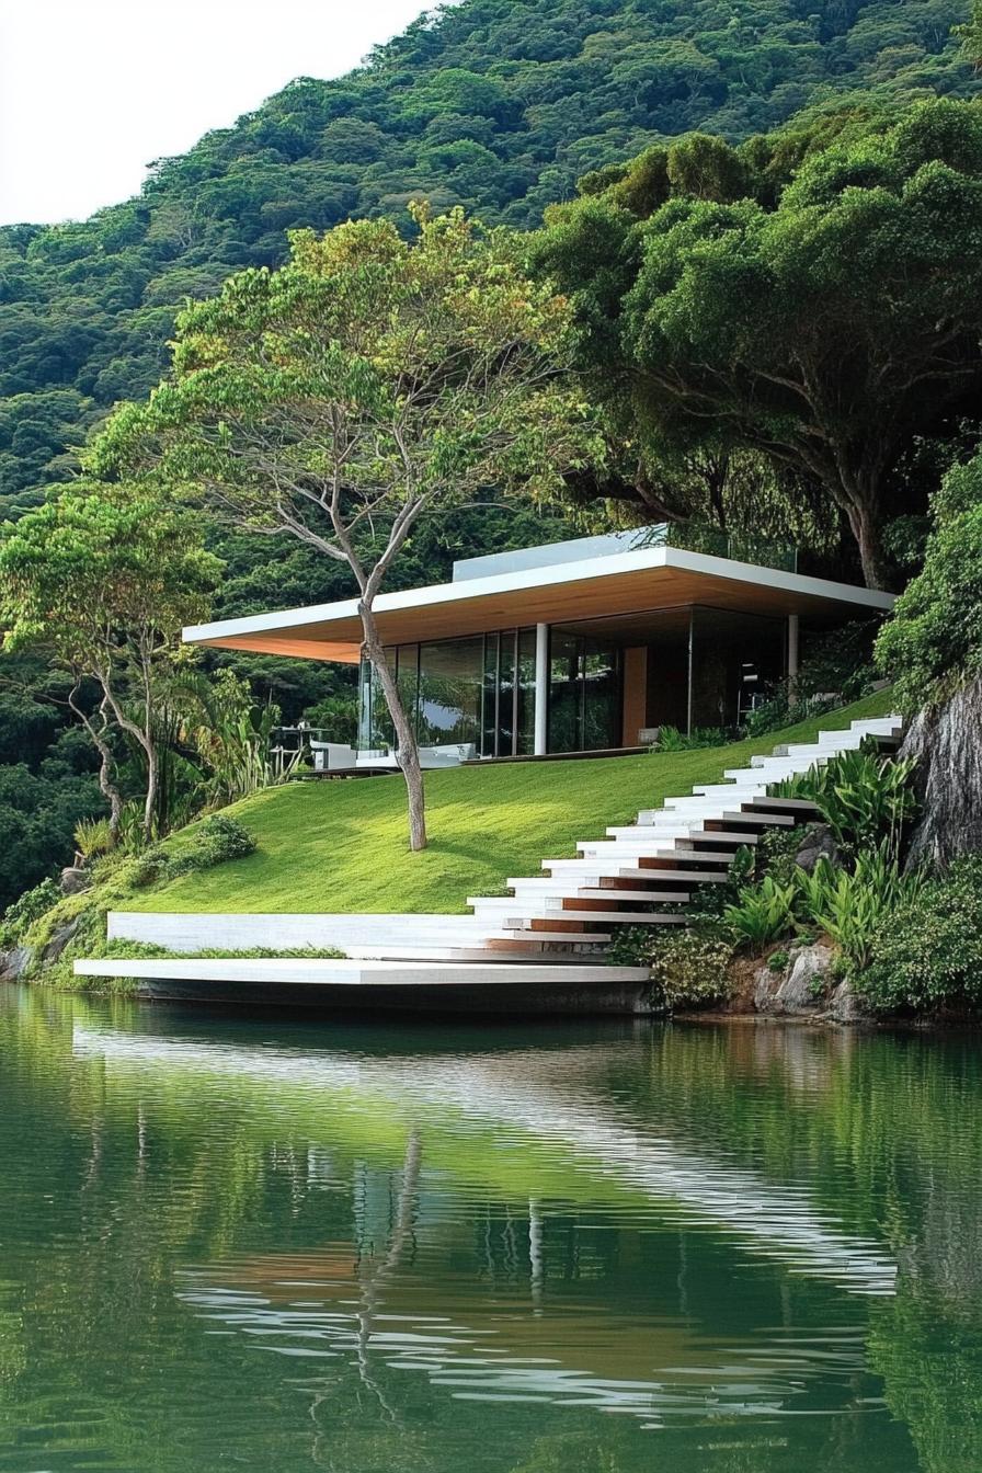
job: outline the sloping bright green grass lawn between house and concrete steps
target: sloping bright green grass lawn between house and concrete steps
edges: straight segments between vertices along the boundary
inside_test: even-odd
[[[754,753],[889,710],[886,691],[729,747],[431,772],[423,854],[406,844],[400,776],[271,788],[227,810],[256,835],[255,854],[174,879],[131,909],[462,913],[467,896],[501,894],[509,875],[536,875],[543,859],[574,854],[577,840],[717,782]]]

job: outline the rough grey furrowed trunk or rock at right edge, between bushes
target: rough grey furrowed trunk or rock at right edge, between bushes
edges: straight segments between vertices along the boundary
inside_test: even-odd
[[[982,676],[913,719],[902,757],[916,757],[922,818],[908,863],[944,868],[982,848]]]

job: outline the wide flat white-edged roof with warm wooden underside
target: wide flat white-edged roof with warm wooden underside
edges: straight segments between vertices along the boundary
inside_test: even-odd
[[[886,613],[894,605],[894,595],[707,552],[646,546],[380,594],[375,619],[384,644],[395,645],[536,623],[561,625],[635,614],[680,604],[773,616],[801,614],[814,623],[830,625]],[[355,664],[362,642],[358,600],[191,625],[184,630],[184,641],[219,650]]]

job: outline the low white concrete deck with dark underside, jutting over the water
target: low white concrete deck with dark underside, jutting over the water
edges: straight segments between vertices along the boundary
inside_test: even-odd
[[[378,962],[287,957],[75,962],[77,977],[133,977],[138,996],[243,1006],[459,1013],[640,1013],[639,966],[523,962]]]

